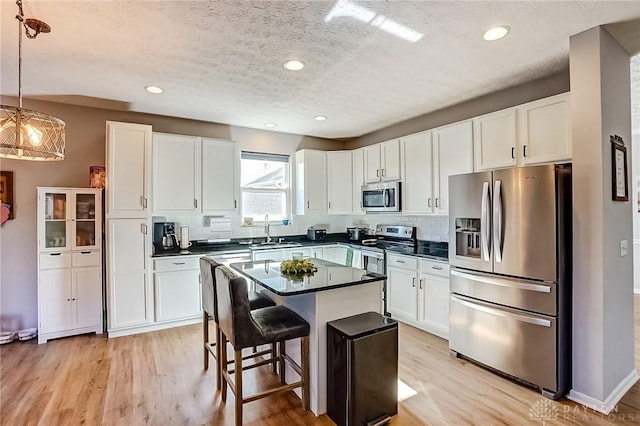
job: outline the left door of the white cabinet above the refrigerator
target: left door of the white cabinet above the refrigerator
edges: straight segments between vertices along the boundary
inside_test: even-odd
[[[473,120],[473,132],[476,171],[516,165],[515,108],[475,118]]]

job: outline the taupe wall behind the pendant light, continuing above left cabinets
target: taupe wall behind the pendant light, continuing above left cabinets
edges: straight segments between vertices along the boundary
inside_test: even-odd
[[[13,98],[0,102],[17,105]],[[25,100],[25,108],[55,115],[67,123],[66,159],[60,162],[1,160],[14,172],[15,219],[0,227],[0,330],[37,326],[37,186],[89,186],[89,167],[105,164],[107,120],[151,124],[154,131],[234,139],[243,147],[291,153],[302,148],[343,149],[344,142],[233,127],[180,118]]]

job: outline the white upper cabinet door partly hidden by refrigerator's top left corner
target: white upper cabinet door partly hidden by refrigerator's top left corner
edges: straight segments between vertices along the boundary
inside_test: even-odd
[[[462,121],[433,131],[433,207],[449,212],[449,176],[473,172],[473,125]]]

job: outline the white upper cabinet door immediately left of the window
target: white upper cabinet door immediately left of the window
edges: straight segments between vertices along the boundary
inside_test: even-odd
[[[202,139],[202,214],[237,214],[240,154],[233,141]]]

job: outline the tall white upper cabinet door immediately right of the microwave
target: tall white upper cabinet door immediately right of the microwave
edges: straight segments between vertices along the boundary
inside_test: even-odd
[[[402,213],[433,213],[433,158],[431,132],[416,133],[401,139],[404,164]]]

